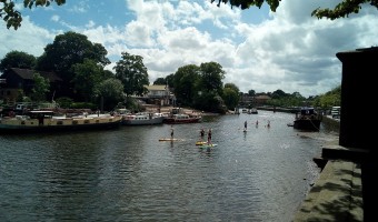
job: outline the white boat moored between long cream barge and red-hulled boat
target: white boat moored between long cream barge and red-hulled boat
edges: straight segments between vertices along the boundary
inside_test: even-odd
[[[162,124],[165,117],[161,113],[137,113],[122,115],[123,125]]]

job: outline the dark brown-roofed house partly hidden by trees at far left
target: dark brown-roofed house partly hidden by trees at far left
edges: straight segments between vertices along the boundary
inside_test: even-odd
[[[50,81],[48,98],[52,98],[56,90],[61,89],[63,81],[54,72],[10,68],[0,77],[2,80],[0,84],[0,100],[3,100],[6,103],[16,102],[20,91],[27,97],[30,95],[34,87],[33,77],[36,73]]]

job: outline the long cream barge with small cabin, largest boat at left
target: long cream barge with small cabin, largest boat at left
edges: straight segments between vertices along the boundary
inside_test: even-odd
[[[56,115],[53,111],[34,110],[24,115],[4,117],[0,119],[1,133],[53,132],[72,130],[99,130],[117,128],[122,118],[119,115],[105,117],[71,117]]]

